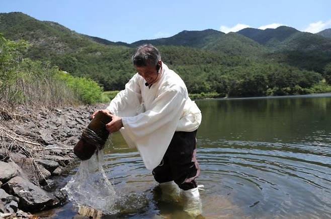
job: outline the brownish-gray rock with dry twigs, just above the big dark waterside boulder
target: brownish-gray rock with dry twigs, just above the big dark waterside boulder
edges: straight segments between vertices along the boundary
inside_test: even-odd
[[[41,164],[35,163],[33,158],[21,158],[17,161],[17,164],[36,185],[39,185],[39,182],[44,181],[45,178],[47,179],[51,175]]]

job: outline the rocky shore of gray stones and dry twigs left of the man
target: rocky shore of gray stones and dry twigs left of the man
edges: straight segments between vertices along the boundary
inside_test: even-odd
[[[105,107],[1,111],[0,218],[32,217],[66,202],[52,178],[76,160],[72,149],[82,129]]]

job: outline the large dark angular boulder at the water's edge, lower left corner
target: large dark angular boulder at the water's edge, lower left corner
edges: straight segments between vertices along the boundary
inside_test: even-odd
[[[23,210],[37,211],[59,203],[54,195],[21,176],[10,179],[3,187],[8,193],[19,197],[19,208]]]

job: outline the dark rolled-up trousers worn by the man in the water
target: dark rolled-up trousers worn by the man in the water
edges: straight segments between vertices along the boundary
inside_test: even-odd
[[[196,160],[196,133],[175,132],[161,163],[155,167],[152,174],[159,183],[174,180],[183,190],[196,188],[195,178],[200,173]]]

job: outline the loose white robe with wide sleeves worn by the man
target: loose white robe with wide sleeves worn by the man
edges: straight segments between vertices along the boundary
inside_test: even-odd
[[[194,131],[201,123],[201,111],[189,98],[181,77],[164,63],[160,74],[150,88],[135,74],[107,107],[122,117],[123,138],[138,149],[150,170],[161,162],[175,131]]]

